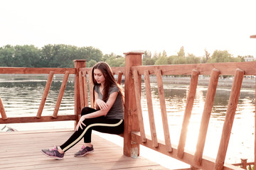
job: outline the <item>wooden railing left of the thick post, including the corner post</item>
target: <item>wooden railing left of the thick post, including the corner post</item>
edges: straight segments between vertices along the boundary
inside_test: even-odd
[[[75,60],[75,68],[23,68],[23,67],[1,67],[0,74],[48,74],[48,79],[46,82],[46,87],[43,92],[43,96],[41,99],[41,103],[38,106],[38,112],[36,116],[30,117],[12,117],[8,118],[6,115],[6,111],[4,109],[4,104],[1,101],[0,96],[0,113],[1,119],[0,124],[3,123],[38,123],[38,122],[52,122],[52,121],[65,121],[65,120],[75,120],[76,122],[80,118],[81,108],[85,106],[89,106],[88,104],[88,96],[87,90],[87,77],[86,74],[90,73],[91,68],[85,68],[86,60]],[[82,69],[82,71],[80,70]],[[119,83],[121,82],[122,72],[124,72],[124,67],[115,67],[112,68],[114,70],[114,74],[118,75]],[[60,92],[58,95],[58,99],[55,103],[55,108],[53,111],[53,115],[46,116],[43,115],[43,108],[46,104],[46,99],[50,90],[50,85],[53,81],[54,74],[64,74],[62,84],[60,86]],[[70,74],[75,74],[75,114],[72,115],[58,115],[58,111],[60,108],[60,103],[62,101],[65,86],[68,82],[68,77]],[[84,84],[84,85],[82,85]],[[81,91],[81,93],[80,93]],[[90,84],[90,94],[92,93],[92,84]],[[92,95],[90,95],[92,96]]]

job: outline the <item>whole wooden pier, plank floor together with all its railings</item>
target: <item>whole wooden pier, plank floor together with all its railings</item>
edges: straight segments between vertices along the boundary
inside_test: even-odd
[[[139,147],[143,145],[148,147],[149,149],[153,149],[156,152],[160,152],[161,154],[166,154],[169,157],[174,159],[178,159],[181,162],[189,164],[191,168],[189,169],[206,169],[206,170],[231,170],[231,169],[246,169],[248,165],[254,164],[255,162],[247,163],[242,161],[241,164],[226,164],[225,156],[228,150],[228,144],[230,140],[230,134],[233,126],[233,121],[235,118],[236,108],[238,106],[238,99],[240,96],[240,90],[242,85],[242,80],[244,76],[256,76],[256,62],[232,62],[232,63],[212,63],[212,64],[180,64],[180,65],[159,65],[159,66],[142,66],[142,54],[141,52],[128,52],[125,53],[125,67],[114,67],[112,68],[114,74],[118,75],[117,82],[121,82],[122,76],[124,76],[124,143],[123,147],[119,148],[114,147],[114,153],[117,150],[117,157],[113,157],[113,160],[109,159],[112,157],[114,153],[112,153],[112,149],[109,149],[112,145],[102,145],[101,142],[96,142],[95,149],[99,150],[97,154],[92,154],[89,157],[85,157],[85,162],[80,162],[80,159],[74,159],[70,153],[67,153],[66,157],[70,158],[68,160],[63,161],[62,169],[65,169],[65,165],[72,167],[77,167],[81,164],[81,167],[86,167],[88,162],[95,162],[89,169],[162,169],[159,164],[147,162],[142,163],[138,160],[132,160],[130,157],[139,157]],[[38,122],[49,122],[49,121],[65,121],[65,120],[74,120],[78,122],[80,118],[81,108],[84,106],[89,106],[89,98],[92,97],[92,84],[90,84],[91,77],[91,68],[85,67],[85,60],[75,60],[75,68],[70,69],[58,69],[58,68],[1,68],[0,74],[48,74],[48,81],[46,83],[46,89],[43,93],[43,97],[41,100],[41,104],[38,109],[38,113],[35,116],[31,117],[23,117],[23,118],[8,118],[6,112],[4,111],[4,101],[0,100],[0,112],[1,119],[0,123],[38,123]],[[60,94],[58,96],[58,100],[55,105],[55,109],[52,116],[41,115],[43,111],[43,106],[46,103],[48,91],[50,88],[50,84],[52,81],[53,74],[64,74],[63,84],[60,87]],[[75,114],[73,115],[58,115],[58,109],[60,108],[60,103],[63,97],[63,93],[65,91],[65,85],[67,83],[67,79],[69,74],[75,74]],[[164,132],[164,141],[160,141],[157,138],[156,132],[156,123],[154,122],[154,109],[153,103],[151,99],[151,86],[150,86],[150,75],[156,76],[157,86],[158,86],[158,96],[159,102],[161,106],[161,116],[162,120],[162,129]],[[179,138],[178,144],[174,144],[171,142],[171,136],[169,133],[169,123],[168,117],[166,113],[166,102],[164,98],[164,86],[163,86],[163,76],[172,76],[172,75],[186,75],[191,77],[191,82],[189,86],[189,91],[187,94],[186,100],[186,108],[183,115],[183,123],[181,127],[181,134]],[[215,91],[218,86],[218,79],[221,75],[231,75],[233,76],[233,84],[230,88],[230,99],[228,101],[227,112],[225,113],[225,121],[223,124],[222,135],[219,143],[219,147],[215,148],[218,150],[217,157],[209,158],[203,155],[203,149],[205,147],[206,135],[208,134],[208,124],[210,120],[210,115],[213,108],[213,101],[215,98]],[[188,149],[185,148],[186,135],[188,131],[189,120],[191,118],[191,111],[193,109],[193,101],[196,95],[196,89],[198,85],[198,77],[199,76],[207,76],[210,77],[210,81],[208,84],[208,91],[206,94],[206,101],[203,108],[200,130],[198,135],[198,142],[196,145],[196,152],[189,152]],[[142,115],[142,103],[141,103],[141,90],[142,90],[142,77],[144,77],[144,85],[146,89],[146,101],[147,101],[147,112],[149,114],[149,125],[150,125],[150,135],[145,134],[144,130],[144,119]],[[88,81],[89,80],[89,81]],[[89,89],[87,89],[87,85]],[[89,96],[87,91],[89,91]],[[256,91],[255,91],[256,95]],[[1,99],[1,98],[0,98]],[[90,98],[92,99],[92,98]],[[255,107],[256,110],[256,107]],[[256,118],[256,116],[255,116]],[[256,122],[256,121],[255,121]],[[255,124],[256,127],[256,124]],[[240,130],[242,130],[241,127]],[[28,161],[33,158],[33,154],[35,153],[35,157],[37,159],[34,162],[37,162],[38,167],[42,168],[47,164],[47,167],[51,168],[53,164],[55,167],[59,166],[59,162],[53,161],[45,161],[45,158],[38,156],[37,149],[41,149],[41,147],[52,147],[54,140],[59,140],[62,136],[69,136],[70,132],[48,132],[47,130],[44,132],[15,132],[14,134],[6,133],[6,135],[1,135],[0,147],[1,151],[6,149],[4,155],[0,154],[0,162],[1,164],[6,164],[4,162],[10,162],[8,166],[11,166],[16,162],[16,159],[21,159],[16,157],[14,154],[16,153],[15,146],[20,145],[21,150],[18,150],[17,154],[19,156],[23,156],[23,161],[20,164],[27,164],[28,167],[36,166],[33,164],[33,161]],[[55,135],[58,135],[56,137]],[[33,142],[31,139],[34,139]],[[35,138],[34,138],[35,137]],[[49,140],[50,138],[50,140]],[[98,138],[98,137],[95,137]],[[18,140],[19,139],[19,140]],[[256,134],[255,134],[256,139]],[[41,142],[43,141],[43,142]],[[49,141],[49,142],[48,142]],[[62,140],[63,141],[63,138]],[[256,140],[255,140],[256,141]],[[3,143],[4,142],[4,143]],[[105,142],[104,142],[105,143]],[[106,142],[107,143],[107,142]],[[32,146],[32,144],[34,146]],[[43,144],[43,145],[42,145]],[[58,145],[58,144],[57,144]],[[256,142],[255,142],[256,145]],[[26,146],[28,149],[26,149]],[[98,147],[97,147],[98,146]],[[79,146],[78,146],[79,147]],[[77,146],[74,147],[75,150],[78,150]],[[255,146],[252,146],[252,148]],[[108,149],[106,149],[108,148]],[[30,150],[30,152],[26,152]],[[119,151],[118,151],[119,150]],[[101,152],[107,152],[102,156]],[[26,157],[25,153],[31,154],[31,156]],[[93,156],[94,155],[94,156]],[[9,156],[9,158],[7,157]],[[96,157],[97,156],[97,157]],[[10,159],[13,157],[14,160],[7,160],[7,157]],[[26,157],[26,159],[25,159]],[[72,157],[72,158],[71,158]],[[104,157],[104,158],[103,158]],[[255,149],[255,157],[256,157],[256,149]],[[90,159],[91,158],[91,159]],[[108,161],[105,159],[107,158]],[[28,159],[28,160],[27,160]],[[82,159],[82,158],[81,158]],[[103,159],[106,161],[103,161]],[[36,161],[38,160],[38,161]],[[97,164],[96,160],[100,163]],[[22,163],[27,162],[27,163]],[[126,164],[125,162],[129,162]],[[137,166],[135,162],[139,164],[148,164],[149,166]],[[124,164],[123,164],[124,163]],[[43,165],[42,165],[43,164]],[[106,165],[105,165],[106,164]],[[123,166],[121,165],[123,164]],[[134,164],[131,166],[130,164]],[[150,166],[154,166],[151,168]],[[5,167],[5,166],[2,166]],[[136,167],[136,168],[135,168]],[[0,166],[1,168],[1,166]],[[37,168],[37,167],[36,167]],[[36,169],[35,168],[35,169]],[[46,167],[43,167],[46,168]],[[38,168],[39,169],[39,168]],[[54,169],[54,168],[53,168]],[[80,169],[80,166],[78,167]]]

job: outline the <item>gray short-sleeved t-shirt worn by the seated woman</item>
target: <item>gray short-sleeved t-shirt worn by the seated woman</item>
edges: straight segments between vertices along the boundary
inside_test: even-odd
[[[119,92],[117,86],[110,86],[109,96],[113,92]],[[100,93],[100,86],[95,86],[95,92],[98,94],[99,98],[102,100],[102,94]],[[118,93],[116,100],[110,111],[107,113],[106,118],[108,119],[124,119],[124,104],[122,103],[122,95]]]

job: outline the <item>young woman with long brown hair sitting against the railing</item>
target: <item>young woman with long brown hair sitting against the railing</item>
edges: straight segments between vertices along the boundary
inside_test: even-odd
[[[84,138],[84,145],[74,155],[83,157],[94,152],[91,144],[92,130],[117,135],[124,131],[124,95],[106,62],[98,62],[92,67],[92,83],[92,106],[95,108],[82,108],[81,118],[73,135],[59,147],[41,150],[47,157],[63,159],[64,153]]]

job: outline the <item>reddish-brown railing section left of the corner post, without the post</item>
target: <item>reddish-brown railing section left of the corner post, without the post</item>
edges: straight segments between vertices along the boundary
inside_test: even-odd
[[[76,120],[76,115],[58,115],[58,110],[60,108],[60,103],[63,98],[65,91],[65,86],[68,81],[70,74],[75,74],[75,68],[18,68],[18,67],[1,67],[0,74],[48,74],[48,80],[46,87],[41,99],[40,106],[38,107],[38,113],[31,117],[12,117],[8,118],[4,110],[4,104],[0,98],[0,113],[1,113],[1,123],[38,123],[38,122],[52,122],[52,121],[63,121],[63,120]],[[53,81],[54,74],[64,74],[63,82],[60,87],[60,93],[58,100],[55,104],[55,108],[52,116],[42,116],[43,108],[46,103],[46,98],[50,89],[50,85]],[[1,96],[0,96],[1,97]],[[38,96],[39,97],[39,96]]]

